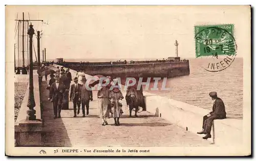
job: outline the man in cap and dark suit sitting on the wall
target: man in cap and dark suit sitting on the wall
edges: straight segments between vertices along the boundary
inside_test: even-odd
[[[217,97],[217,92],[210,92],[209,96],[211,97],[214,105],[212,106],[212,112],[208,115],[203,117],[203,129],[198,134],[206,134],[203,139],[211,138],[210,131],[212,122],[216,119],[225,119],[226,118],[226,111],[225,105],[222,99]]]

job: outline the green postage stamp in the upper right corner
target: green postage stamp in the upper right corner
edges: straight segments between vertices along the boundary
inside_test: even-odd
[[[195,26],[196,58],[236,55],[233,24]]]

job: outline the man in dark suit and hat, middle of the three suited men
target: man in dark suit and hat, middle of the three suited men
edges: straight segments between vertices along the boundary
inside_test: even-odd
[[[77,77],[74,77],[74,82],[75,82],[75,84],[71,85],[70,100],[73,101],[74,117],[76,117],[76,106],[77,106],[78,109],[80,109],[80,104],[81,104],[81,86],[82,85],[78,84],[78,78]]]

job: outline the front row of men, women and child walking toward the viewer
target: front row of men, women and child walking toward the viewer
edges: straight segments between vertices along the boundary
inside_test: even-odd
[[[73,78],[74,84],[70,86],[71,83],[71,73],[69,69],[65,70],[63,67],[57,68],[55,75],[51,74],[51,79],[49,81],[48,89],[49,100],[53,102],[54,118],[61,118],[61,109],[63,106],[63,94],[66,90],[70,90],[70,101],[73,102],[74,116],[77,117],[80,113],[80,106],[82,109],[82,117],[89,115],[90,101],[93,101],[92,90],[89,90],[87,86],[86,74],[79,71]],[[103,86],[103,84],[108,84]],[[120,118],[122,117],[122,99],[124,96],[120,90],[118,84],[118,79],[112,79],[108,76],[103,80],[102,85],[98,84],[97,98],[98,98],[98,117],[102,119],[102,125],[108,125],[107,119],[110,117],[114,118],[115,126],[120,125]],[[113,89],[111,86],[115,86]],[[89,85],[90,87],[90,85]],[[135,111],[135,117],[139,111],[139,95],[137,93],[142,93],[142,91],[136,92],[135,87],[129,87],[126,91],[126,103],[129,105],[130,117],[132,117],[132,111]],[[143,96],[143,93],[142,93]]]

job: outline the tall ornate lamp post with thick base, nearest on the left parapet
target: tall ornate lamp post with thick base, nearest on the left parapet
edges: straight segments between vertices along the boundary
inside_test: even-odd
[[[35,34],[33,25],[30,23],[28,29],[29,35],[29,99],[28,99],[28,108],[27,110],[27,120],[35,120],[35,98],[34,98],[34,85],[33,85],[33,55],[32,55],[32,38]]]

